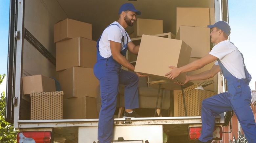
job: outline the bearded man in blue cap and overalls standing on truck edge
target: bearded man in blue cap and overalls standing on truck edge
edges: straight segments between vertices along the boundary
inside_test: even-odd
[[[110,24],[97,40],[97,62],[94,74],[99,80],[101,108],[98,122],[98,140],[110,143],[113,138],[114,113],[117,104],[119,84],[125,85],[125,113],[123,118],[139,118],[135,108],[139,108],[138,82],[139,77],[146,76],[121,69],[121,66],[134,71],[135,67],[124,57],[129,50],[138,54],[139,45],[135,45],[125,28],[133,26],[136,10],[131,3],[123,4],[119,9],[119,19]]]

